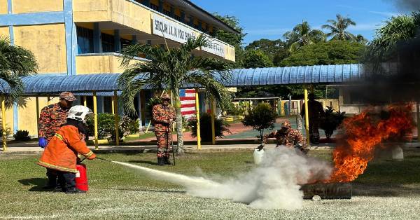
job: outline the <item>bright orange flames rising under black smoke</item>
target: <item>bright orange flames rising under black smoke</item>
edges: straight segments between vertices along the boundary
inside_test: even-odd
[[[346,118],[342,123],[344,134],[332,154],[335,170],[328,182],[353,181],[363,174],[381,142],[405,138],[413,128],[412,104],[386,106],[380,112],[367,109]]]

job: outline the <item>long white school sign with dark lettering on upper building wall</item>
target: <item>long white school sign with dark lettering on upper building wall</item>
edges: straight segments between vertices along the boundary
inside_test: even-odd
[[[186,43],[188,39],[196,37],[196,32],[194,29],[191,29],[190,27],[182,25],[178,22],[167,20],[157,14],[153,14],[152,23],[153,34],[164,36],[165,38],[171,39],[172,41]],[[225,57],[224,43],[212,38],[207,34],[206,36],[209,38],[209,46],[202,47],[202,50],[206,51],[207,53],[218,55],[220,57]]]

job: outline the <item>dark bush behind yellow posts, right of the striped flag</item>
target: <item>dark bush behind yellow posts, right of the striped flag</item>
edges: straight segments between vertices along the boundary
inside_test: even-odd
[[[203,142],[211,142],[211,115],[208,113],[200,114],[200,135]],[[224,137],[223,132],[229,132],[230,125],[220,118],[214,119],[214,130],[216,137]],[[191,135],[197,137],[197,119],[190,118],[188,127],[191,128]]]

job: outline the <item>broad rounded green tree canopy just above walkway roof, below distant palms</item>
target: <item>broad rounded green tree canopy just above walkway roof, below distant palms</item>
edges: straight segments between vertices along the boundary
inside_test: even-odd
[[[351,64],[360,62],[365,46],[349,41],[328,41],[302,46],[281,62],[281,67]]]

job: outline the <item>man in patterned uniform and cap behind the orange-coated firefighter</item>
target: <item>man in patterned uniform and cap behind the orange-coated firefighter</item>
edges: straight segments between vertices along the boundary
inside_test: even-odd
[[[73,93],[62,92],[59,95],[59,102],[45,106],[39,115],[38,145],[45,148],[50,139],[54,137],[55,132],[59,130],[60,125],[66,123],[69,109],[73,101],[76,100]],[[57,186],[57,174],[55,170],[47,168],[48,183],[43,188],[50,189]]]

